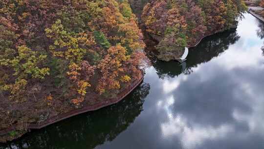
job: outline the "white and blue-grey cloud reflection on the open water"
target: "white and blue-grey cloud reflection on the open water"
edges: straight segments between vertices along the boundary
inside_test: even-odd
[[[170,91],[160,103],[168,115],[160,123],[165,139],[177,136],[186,149],[220,149],[221,143],[244,148],[251,142],[264,147],[263,40],[254,32],[255,19],[245,17],[250,19],[239,25],[236,44],[190,75],[164,80],[163,89]]]

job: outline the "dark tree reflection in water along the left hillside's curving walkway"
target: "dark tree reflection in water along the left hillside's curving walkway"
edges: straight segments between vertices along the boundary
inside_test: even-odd
[[[143,110],[150,85],[142,83],[123,101],[33,130],[0,149],[94,149],[114,140]]]

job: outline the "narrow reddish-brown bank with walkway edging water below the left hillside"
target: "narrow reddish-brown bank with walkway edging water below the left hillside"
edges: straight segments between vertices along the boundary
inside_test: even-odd
[[[124,99],[128,94],[130,94],[142,81],[143,75],[141,74],[137,80],[134,80],[126,89],[124,89],[120,94],[117,95],[116,98],[107,99],[104,101],[100,101],[93,105],[87,105],[80,109],[74,109],[66,113],[58,114],[57,116],[48,118],[47,120],[39,123],[26,123],[24,127],[24,131],[19,130],[19,126],[11,126],[7,129],[0,130],[0,142],[11,141],[13,139],[21,137],[26,132],[30,132],[30,129],[41,129],[47,125],[54,124],[56,122],[65,120],[67,118],[86,113],[89,111],[95,111],[101,109],[103,107],[115,104],[122,99]]]

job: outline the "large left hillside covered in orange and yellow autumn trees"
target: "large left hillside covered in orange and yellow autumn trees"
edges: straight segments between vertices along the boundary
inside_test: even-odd
[[[0,1],[0,129],[115,97],[140,77],[145,44],[127,0]]]

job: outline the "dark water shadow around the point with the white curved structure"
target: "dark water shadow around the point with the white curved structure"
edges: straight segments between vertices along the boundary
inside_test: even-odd
[[[182,73],[191,74],[192,68],[197,67],[198,64],[206,63],[214,57],[218,57],[239,39],[240,37],[235,29],[206,37],[197,47],[190,48],[187,61],[181,64],[177,61],[164,62],[157,60],[154,56],[154,48],[149,48],[146,52],[160,78],[175,77]]]

